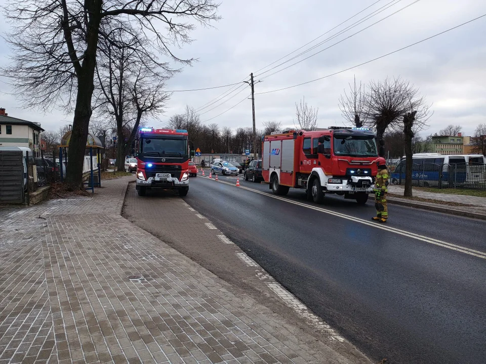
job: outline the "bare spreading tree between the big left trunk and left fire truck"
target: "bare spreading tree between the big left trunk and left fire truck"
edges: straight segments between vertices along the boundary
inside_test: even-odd
[[[125,158],[144,114],[156,116],[163,112],[169,96],[164,93],[164,81],[173,72],[167,64],[159,64],[154,55],[136,52],[146,48],[145,39],[127,37],[119,30],[113,33],[116,41],[100,39],[96,74],[99,86],[97,95],[101,116],[112,117],[116,125],[116,168],[125,170]]]

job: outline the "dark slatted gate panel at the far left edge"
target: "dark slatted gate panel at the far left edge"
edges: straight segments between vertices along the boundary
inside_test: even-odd
[[[22,151],[0,150],[0,204],[24,202]]]

